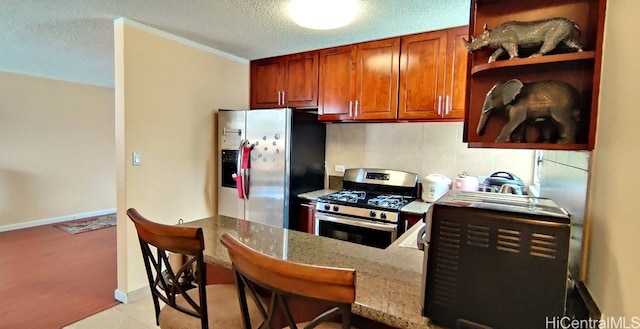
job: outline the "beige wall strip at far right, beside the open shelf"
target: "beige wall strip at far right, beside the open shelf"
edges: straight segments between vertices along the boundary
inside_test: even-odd
[[[608,1],[587,206],[591,225],[587,286],[605,316],[640,316],[638,13],[640,1]]]

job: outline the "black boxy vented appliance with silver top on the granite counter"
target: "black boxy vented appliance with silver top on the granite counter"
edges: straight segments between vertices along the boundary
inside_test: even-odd
[[[547,327],[565,313],[570,230],[549,199],[448,192],[427,218],[423,315],[457,329]]]

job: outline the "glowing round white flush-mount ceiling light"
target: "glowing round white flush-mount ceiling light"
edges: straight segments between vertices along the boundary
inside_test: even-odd
[[[349,25],[360,10],[359,0],[291,0],[293,21],[309,29],[331,30]]]

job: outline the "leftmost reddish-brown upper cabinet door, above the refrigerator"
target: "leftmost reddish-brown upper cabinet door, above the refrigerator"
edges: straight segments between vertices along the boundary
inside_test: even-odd
[[[284,61],[269,58],[251,62],[251,108],[282,107]]]

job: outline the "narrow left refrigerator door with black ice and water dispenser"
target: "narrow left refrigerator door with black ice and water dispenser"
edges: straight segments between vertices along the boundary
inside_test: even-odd
[[[217,170],[218,170],[218,215],[229,216],[233,218],[244,218],[244,200],[238,198],[238,192],[233,186],[222,186],[223,181],[228,181],[229,177],[223,180],[223,172],[225,175],[231,175],[229,172],[228,161],[229,153],[236,153],[240,147],[240,143],[245,136],[245,115],[246,111],[229,111],[220,110],[218,112],[218,149],[216,154]],[[223,153],[227,153],[223,157]],[[225,170],[223,170],[225,169]],[[228,184],[227,184],[228,185]]]

